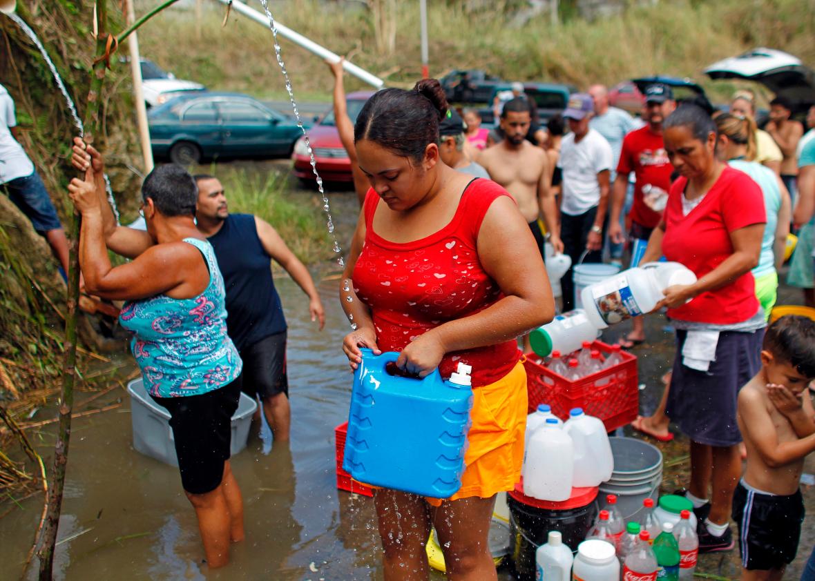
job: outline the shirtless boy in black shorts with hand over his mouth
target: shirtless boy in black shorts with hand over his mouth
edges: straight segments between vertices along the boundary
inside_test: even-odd
[[[804,503],[804,457],[815,452],[815,321],[781,317],[764,335],[761,370],[738,394],[747,468],[736,488],[742,579],[782,579],[795,558]]]

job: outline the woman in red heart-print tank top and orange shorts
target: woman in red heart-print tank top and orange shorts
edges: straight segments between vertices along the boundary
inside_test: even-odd
[[[518,481],[526,375],[516,338],[550,321],[551,287],[512,198],[438,157],[447,110],[435,80],[375,94],[355,125],[359,167],[371,181],[351,244],[340,299],[354,331],[343,351],[401,352],[397,365],[443,377],[473,366],[474,406],[462,486],[448,500],[375,491],[385,579],[428,570],[438,532],[451,579],[495,579],[487,532],[496,493]],[[346,290],[347,289],[347,290]]]

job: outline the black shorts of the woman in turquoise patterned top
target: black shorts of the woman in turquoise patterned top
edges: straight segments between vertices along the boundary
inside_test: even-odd
[[[214,391],[186,397],[151,396],[170,412],[181,484],[191,494],[214,491],[229,460],[232,414],[240,400],[240,377]]]

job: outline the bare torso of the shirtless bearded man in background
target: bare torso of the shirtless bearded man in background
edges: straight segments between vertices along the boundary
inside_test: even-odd
[[[538,219],[540,182],[548,179],[548,159],[544,150],[524,141],[520,146],[506,142],[482,151],[478,158],[492,181],[503,186],[518,203],[527,222]]]

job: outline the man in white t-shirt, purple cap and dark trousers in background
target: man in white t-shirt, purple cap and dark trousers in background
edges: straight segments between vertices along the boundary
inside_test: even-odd
[[[591,95],[569,98],[563,116],[571,133],[561,142],[557,167],[561,169],[561,239],[572,264],[588,251],[584,262],[601,262],[613,152],[609,142],[588,126],[594,113]],[[575,308],[571,269],[563,276],[563,310]]]

